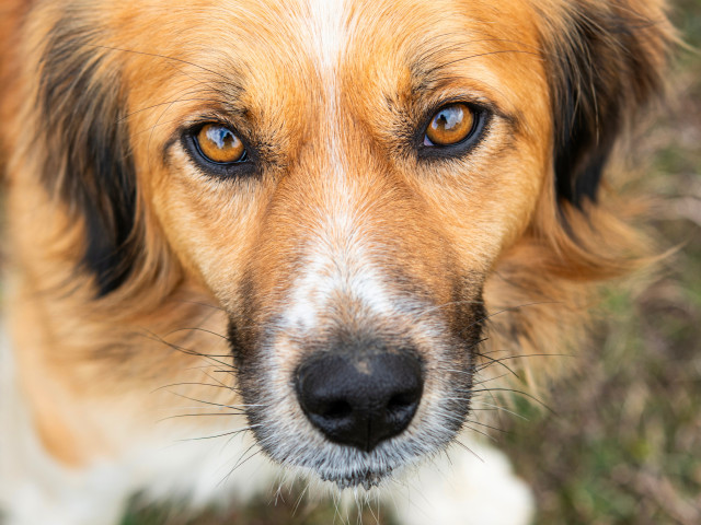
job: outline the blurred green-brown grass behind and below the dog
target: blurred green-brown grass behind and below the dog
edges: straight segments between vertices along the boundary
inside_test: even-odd
[[[701,49],[701,0],[678,0],[671,14]],[[662,197],[652,225],[681,249],[644,284],[605,291],[595,343],[552,388],[555,413],[520,400],[526,419],[499,422],[498,446],[535,490],[538,525],[701,524],[701,56],[678,55],[669,102],[636,139],[634,164],[644,171],[625,190]],[[135,506],[123,525],[334,523],[330,504],[268,502],[197,518]]]

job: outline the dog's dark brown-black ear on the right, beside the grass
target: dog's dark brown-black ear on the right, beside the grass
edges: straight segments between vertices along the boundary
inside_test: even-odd
[[[567,2],[544,12],[559,203],[596,201],[621,129],[662,86],[671,30],[656,0]]]

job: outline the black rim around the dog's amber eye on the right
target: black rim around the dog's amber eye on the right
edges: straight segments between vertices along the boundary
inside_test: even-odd
[[[472,112],[474,121],[472,124],[470,132],[466,135],[462,140],[456,142],[455,144],[425,144],[424,140],[427,139],[426,130],[428,129],[432,120],[439,112],[455,105],[464,105]],[[455,159],[466,155],[482,141],[491,119],[492,112],[489,107],[481,104],[475,104],[473,102],[467,102],[463,100],[443,101],[440,104],[426,112],[426,117],[423,119],[423,124],[418,127],[417,132],[414,137],[414,147],[416,149],[418,158],[426,160]],[[430,141],[430,139],[428,139],[428,141]]]

